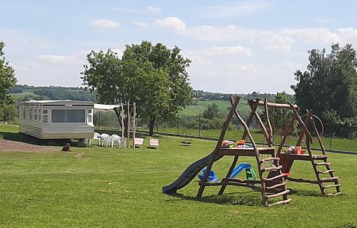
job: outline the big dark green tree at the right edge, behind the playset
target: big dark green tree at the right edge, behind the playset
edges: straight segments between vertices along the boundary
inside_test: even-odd
[[[326,112],[336,111],[341,121],[357,116],[357,56],[351,44],[331,46],[331,53],[313,49],[307,70],[294,73],[295,91],[300,110],[312,109],[315,115],[330,121]],[[325,115],[324,115],[325,114]],[[352,123],[354,123],[352,121]]]

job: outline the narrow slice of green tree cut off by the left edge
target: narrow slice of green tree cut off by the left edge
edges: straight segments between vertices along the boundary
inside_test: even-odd
[[[8,119],[6,113],[10,113],[10,111],[13,110],[11,104],[14,103],[14,97],[9,94],[9,88],[15,85],[16,78],[14,69],[9,65],[9,62],[5,60],[4,46],[4,42],[0,41],[0,105],[3,109],[2,112],[4,113],[5,121],[5,119]]]

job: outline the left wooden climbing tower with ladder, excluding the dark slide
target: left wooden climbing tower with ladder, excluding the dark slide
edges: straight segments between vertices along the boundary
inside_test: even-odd
[[[282,166],[279,165],[280,158],[276,157],[275,148],[271,146],[269,143],[268,147],[257,147],[256,142],[254,141],[248,126],[251,124],[253,117],[256,117],[258,122],[263,129],[264,135],[268,136],[267,130],[263,125],[261,119],[259,118],[258,114],[256,113],[256,108],[258,107],[259,100],[256,102],[250,103],[252,108],[252,113],[247,120],[247,123],[241,118],[239,113],[237,112],[236,108],[238,106],[240,98],[231,98],[231,110],[228,113],[225,123],[223,124],[223,128],[221,130],[221,135],[218,139],[217,145],[215,150],[213,150],[213,156],[211,160],[208,162],[207,169],[205,175],[201,182],[198,184],[200,185],[199,190],[197,192],[197,197],[201,197],[203,191],[206,186],[217,186],[221,185],[221,190],[219,190],[218,195],[222,195],[224,190],[226,190],[227,185],[235,185],[241,187],[249,187],[253,190],[261,190],[261,197],[264,206],[272,206],[275,204],[286,204],[291,201],[288,198],[289,190],[286,189],[286,181],[285,175],[281,172]],[[226,134],[226,130],[228,129],[228,125],[231,122],[231,118],[233,115],[236,115],[241,125],[244,127],[244,133],[242,139],[250,140],[253,147],[249,148],[221,148],[221,143],[223,142],[224,135]],[[268,155],[266,159],[261,159],[261,155]],[[227,175],[221,182],[207,182],[209,172],[213,166],[213,163],[216,160],[219,160],[223,156],[233,156],[233,162],[231,167],[229,168]],[[243,179],[236,179],[231,178],[231,173],[233,172],[236,163],[238,162],[238,158],[240,156],[243,157],[256,157],[256,162],[258,166],[258,176],[259,180],[243,180]],[[269,167],[264,167],[264,164],[270,164]],[[269,172],[275,172],[278,175],[274,175],[273,177],[268,177]],[[272,192],[272,193],[271,193]],[[274,197],[283,197],[281,201],[273,202],[269,204],[269,201]]]

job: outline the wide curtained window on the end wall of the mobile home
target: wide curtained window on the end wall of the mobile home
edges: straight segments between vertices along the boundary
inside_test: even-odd
[[[86,123],[85,110],[52,110],[52,123]]]

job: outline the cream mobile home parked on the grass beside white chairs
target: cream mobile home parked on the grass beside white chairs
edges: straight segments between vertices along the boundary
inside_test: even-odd
[[[19,103],[20,132],[41,139],[93,138],[94,103],[30,100]]]

